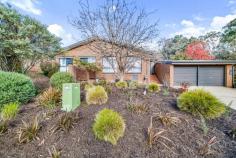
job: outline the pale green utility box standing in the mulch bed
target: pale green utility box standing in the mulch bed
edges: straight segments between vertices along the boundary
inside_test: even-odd
[[[65,83],[62,90],[62,110],[73,111],[80,106],[80,84]]]

